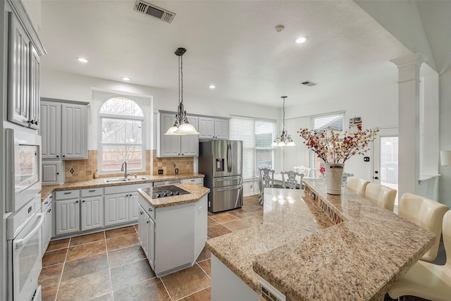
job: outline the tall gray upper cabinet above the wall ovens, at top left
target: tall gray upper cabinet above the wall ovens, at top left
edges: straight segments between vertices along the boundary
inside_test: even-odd
[[[45,54],[21,1],[4,1],[8,18],[7,119],[39,128],[39,57]],[[3,7],[3,6],[2,6]]]

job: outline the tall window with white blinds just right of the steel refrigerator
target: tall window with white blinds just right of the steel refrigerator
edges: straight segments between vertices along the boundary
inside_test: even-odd
[[[258,178],[257,166],[273,166],[271,143],[274,140],[276,121],[233,117],[230,119],[230,139],[243,141],[243,179]]]

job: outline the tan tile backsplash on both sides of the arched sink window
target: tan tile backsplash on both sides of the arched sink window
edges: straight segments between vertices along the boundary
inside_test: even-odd
[[[97,149],[87,151],[87,159],[85,160],[65,160],[64,169],[66,182],[83,182],[92,180],[97,169]],[[152,163],[152,164],[151,164]],[[146,150],[146,171],[137,174],[158,175],[158,170],[163,169],[164,175],[174,175],[175,168],[178,173],[193,173],[194,158],[157,158],[155,149]],[[99,178],[111,178],[115,176],[123,176],[123,173],[101,174]]]

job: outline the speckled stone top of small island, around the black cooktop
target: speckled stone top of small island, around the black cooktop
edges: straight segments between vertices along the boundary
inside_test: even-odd
[[[159,197],[158,199],[152,199],[150,195],[152,195],[153,188],[139,188],[138,193],[154,208],[162,208],[162,207],[170,207],[176,206],[180,204],[188,204],[197,202],[199,199],[202,199],[204,195],[210,192],[209,188],[205,188],[200,185],[195,184],[175,184],[178,188],[182,188],[187,192],[190,192],[189,195],[174,195],[173,197]]]

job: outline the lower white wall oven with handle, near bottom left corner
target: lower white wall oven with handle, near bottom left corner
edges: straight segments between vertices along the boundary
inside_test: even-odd
[[[41,195],[6,219],[8,241],[8,301],[41,301]]]

